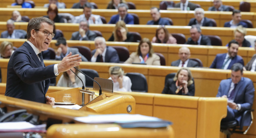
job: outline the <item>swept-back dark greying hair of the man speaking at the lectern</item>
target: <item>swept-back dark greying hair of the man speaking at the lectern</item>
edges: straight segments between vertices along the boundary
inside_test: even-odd
[[[39,30],[41,28],[41,24],[46,22],[47,24],[53,26],[54,23],[52,20],[45,18],[45,17],[36,17],[32,18],[28,22],[28,28],[27,28],[27,39],[30,39],[31,37],[31,31],[34,30]]]

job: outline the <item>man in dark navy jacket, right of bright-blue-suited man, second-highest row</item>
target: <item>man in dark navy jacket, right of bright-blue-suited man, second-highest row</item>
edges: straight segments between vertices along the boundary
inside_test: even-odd
[[[150,14],[152,20],[148,21],[147,25],[166,25],[170,26],[170,22],[161,18],[161,13],[159,12],[159,8],[153,7],[150,8]]]

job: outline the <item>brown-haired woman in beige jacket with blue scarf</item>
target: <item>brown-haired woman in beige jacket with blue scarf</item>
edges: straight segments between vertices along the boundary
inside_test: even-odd
[[[148,38],[143,38],[138,45],[137,51],[132,52],[130,57],[124,63],[146,63],[147,65],[160,65],[160,57],[154,53],[150,40]]]

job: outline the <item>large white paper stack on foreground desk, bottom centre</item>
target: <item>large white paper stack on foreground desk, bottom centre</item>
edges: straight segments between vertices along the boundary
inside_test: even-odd
[[[76,117],[74,120],[91,124],[102,123],[117,123],[123,128],[159,128],[166,127],[172,122],[165,121],[160,118],[152,116],[144,116],[140,114],[102,114],[102,115],[89,115],[85,117]]]

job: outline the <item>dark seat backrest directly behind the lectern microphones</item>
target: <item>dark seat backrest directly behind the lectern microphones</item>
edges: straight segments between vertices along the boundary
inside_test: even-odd
[[[94,79],[94,77],[99,77],[98,72],[93,70],[93,69],[80,69],[80,70],[84,74],[86,74],[89,77],[91,77],[92,79]],[[89,79],[88,77],[85,77],[85,87],[89,87],[89,88],[93,87],[93,81],[91,79]]]

